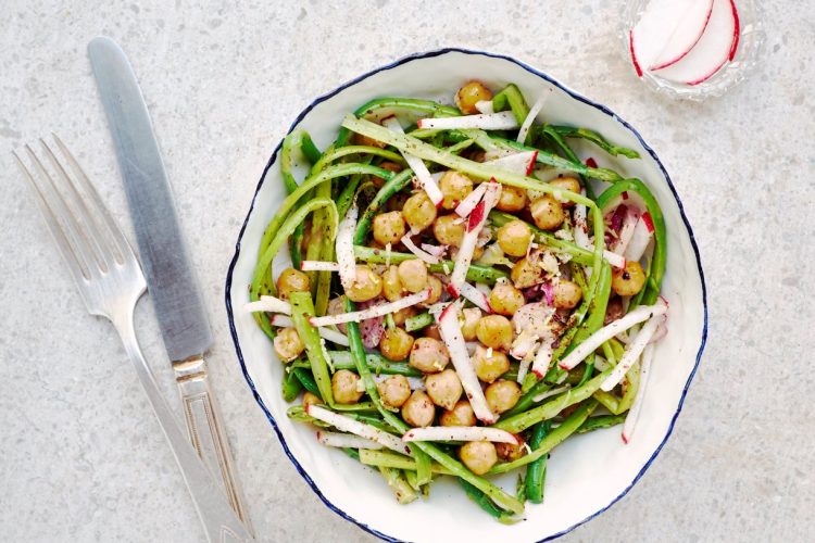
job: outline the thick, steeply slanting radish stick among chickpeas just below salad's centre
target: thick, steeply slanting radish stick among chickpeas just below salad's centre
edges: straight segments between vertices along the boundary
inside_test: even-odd
[[[439,325],[439,333],[450,353],[450,361],[453,363],[455,372],[459,375],[464,393],[467,394],[469,404],[478,420],[491,425],[498,420],[487,404],[484,396],[481,383],[475,372],[473,361],[467,353],[467,344],[461,331],[461,299],[447,305],[437,305],[431,310]]]

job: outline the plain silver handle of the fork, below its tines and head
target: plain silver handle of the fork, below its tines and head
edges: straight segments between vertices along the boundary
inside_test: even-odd
[[[147,392],[150,406],[153,408],[164,437],[167,438],[170,449],[173,451],[178,468],[184,477],[192,496],[192,502],[204,527],[206,539],[211,543],[238,543],[254,541],[243,523],[229,506],[221,489],[210,476],[209,471],[198,457],[196,450],[190,445],[187,435],[178,426],[166,400],[161,394],[155,383],[150,366],[141,354],[136,331],[133,327],[133,317],[124,323],[114,323],[125,351],[130,357],[141,386]]]

